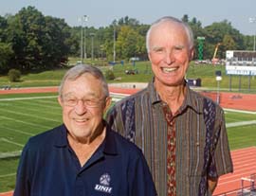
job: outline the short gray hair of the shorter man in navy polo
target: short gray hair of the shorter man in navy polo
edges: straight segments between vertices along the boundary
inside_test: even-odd
[[[91,74],[96,79],[101,80],[103,94],[106,98],[109,97],[108,85],[101,70],[95,66],[87,64],[75,65],[65,73],[64,78],[59,87],[59,96],[62,97],[63,95],[64,82],[66,80],[77,80],[85,73]]]

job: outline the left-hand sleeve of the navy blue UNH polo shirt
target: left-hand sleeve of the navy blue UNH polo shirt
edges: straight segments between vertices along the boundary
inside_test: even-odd
[[[29,196],[30,195],[30,170],[29,165],[29,148],[28,143],[22,151],[19,166],[16,174],[16,186],[13,196]]]

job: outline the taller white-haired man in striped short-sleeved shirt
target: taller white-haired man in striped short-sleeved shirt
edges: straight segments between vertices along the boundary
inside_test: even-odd
[[[223,109],[185,80],[192,30],[163,17],[149,28],[146,45],[153,80],[116,103],[107,120],[143,151],[158,195],[211,195],[219,176],[233,167]]]

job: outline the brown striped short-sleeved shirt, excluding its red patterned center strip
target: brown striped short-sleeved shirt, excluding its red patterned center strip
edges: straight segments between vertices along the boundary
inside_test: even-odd
[[[207,176],[232,171],[224,112],[187,84],[186,89],[184,102],[174,116],[176,195],[210,195]],[[159,196],[167,195],[168,190],[169,125],[162,105],[152,80],[147,88],[117,102],[106,117],[114,130],[143,151]]]

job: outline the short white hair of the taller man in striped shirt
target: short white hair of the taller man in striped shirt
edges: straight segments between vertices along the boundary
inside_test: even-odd
[[[161,24],[161,23],[165,23],[165,22],[168,22],[168,23],[176,23],[176,24],[179,24],[181,25],[182,27],[184,27],[186,33],[187,33],[187,36],[188,36],[188,40],[189,40],[189,45],[190,45],[190,49],[192,49],[193,47],[193,33],[192,33],[192,28],[185,22],[177,19],[177,18],[174,18],[173,16],[164,16],[158,20],[155,21],[155,23],[153,23],[151,25],[151,27],[148,29],[147,31],[147,35],[146,35],[146,47],[147,47],[147,52],[150,52],[150,47],[149,47],[149,39],[150,39],[150,35],[151,35],[151,31],[153,29],[153,27]]]

